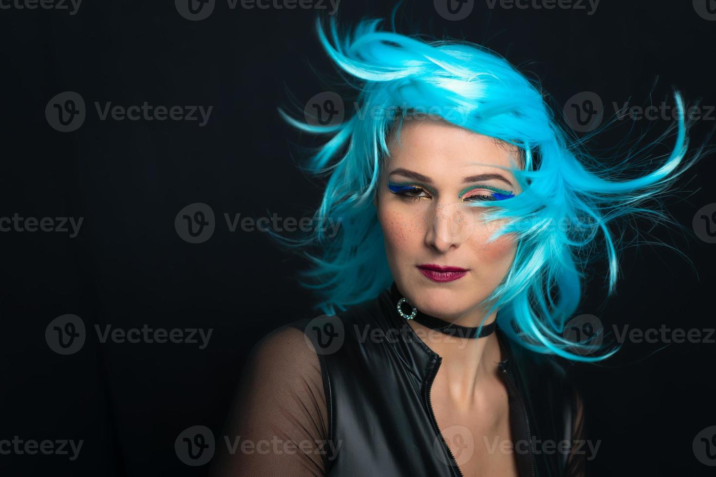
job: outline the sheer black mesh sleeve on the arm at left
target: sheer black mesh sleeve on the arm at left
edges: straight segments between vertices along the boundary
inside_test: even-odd
[[[319,355],[286,326],[251,351],[213,468],[214,477],[326,473],[329,423]]]

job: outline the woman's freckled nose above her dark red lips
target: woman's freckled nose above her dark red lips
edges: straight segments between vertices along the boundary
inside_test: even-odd
[[[437,204],[426,218],[425,245],[440,253],[460,247],[475,227],[473,212],[461,202]]]

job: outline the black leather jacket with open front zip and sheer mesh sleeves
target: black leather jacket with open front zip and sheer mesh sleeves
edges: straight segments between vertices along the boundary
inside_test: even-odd
[[[524,444],[516,448],[519,475],[584,475],[584,454],[539,446],[584,439],[581,404],[566,373],[553,358],[495,333],[506,357],[499,370],[512,439]],[[268,369],[267,361],[276,364]],[[274,331],[254,350],[229,429],[253,443],[279,436],[284,451],[233,453],[216,475],[461,476],[430,405],[440,362],[397,314],[388,291],[338,317]],[[276,373],[283,377],[271,378]],[[304,449],[289,454],[286,441]],[[312,441],[316,446],[306,443]]]

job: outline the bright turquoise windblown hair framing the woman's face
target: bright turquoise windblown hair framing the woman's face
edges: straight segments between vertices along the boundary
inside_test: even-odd
[[[662,163],[648,171],[647,162],[627,154],[607,166],[558,124],[539,84],[501,56],[467,41],[422,41],[380,31],[380,24],[364,20],[344,36],[335,21],[327,32],[321,21],[316,24],[330,58],[356,80],[351,86],[357,90],[359,112],[340,124],[321,126],[280,111],[304,132],[326,136],[307,169],[327,177],[314,218],[341,220],[339,233],[328,237],[317,227],[306,239],[288,242],[312,262],[304,285],[319,295],[318,307],[337,313],[390,287],[393,279],[372,199],[391,138],[399,135],[407,115],[422,111],[520,151],[520,167],[509,170],[523,192],[508,200],[470,203],[489,206],[481,220],[505,223],[492,240],[507,233],[516,238],[511,269],[482,303],[490,313],[499,309],[500,328],[538,353],[580,361],[614,353],[616,348],[586,356],[589,345],[566,340],[563,331],[579,306],[584,270],[594,258],[608,260],[608,293],[614,292],[622,237],[612,236],[610,222],[645,214],[669,221],[656,207],[640,206],[647,200],[658,204],[659,195],[696,160],[684,160],[687,124],[679,93],[674,93],[675,144]],[[629,177],[635,164],[641,174]],[[565,220],[568,226],[560,226]]]

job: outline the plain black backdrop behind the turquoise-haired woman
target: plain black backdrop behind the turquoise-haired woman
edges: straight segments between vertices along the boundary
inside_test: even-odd
[[[0,233],[0,439],[84,440],[76,461],[0,455],[3,475],[205,475],[208,466],[178,459],[175,438],[196,425],[219,436],[251,345],[282,323],[320,314],[296,282],[303,262],[263,232],[229,232],[223,213],[304,217],[318,204],[321,182],[295,167],[299,146],[311,139],[282,122],[277,107],[298,104],[292,110],[300,116],[310,97],[333,89],[326,79],[337,75],[314,30],[327,12],[240,5],[218,1],[202,21],[184,19],[172,1],[85,0],[75,15],[0,10],[0,216],[84,217],[74,238]],[[385,18],[391,8],[343,0],[339,19]],[[503,54],[541,79],[560,116],[560,105],[583,91],[599,94],[607,117],[612,102],[673,105],[673,87],[689,104],[716,104],[716,21],[691,1],[602,0],[592,15],[478,1],[461,21],[441,18],[430,1],[407,1],[397,24]],[[74,132],[57,132],[45,117],[64,91],[87,104]],[[144,101],[213,111],[198,127],[100,121],[94,109],[94,102]],[[715,117],[694,124],[692,148],[707,141]],[[616,122],[589,145],[601,151],[639,134],[648,142],[669,124]],[[674,248],[627,248],[608,301],[604,270],[595,268],[580,313],[632,328],[714,327],[716,245],[695,237],[692,218],[716,202],[715,177],[711,156],[684,174],[667,209],[685,232],[637,222],[644,240]],[[174,227],[194,202],[216,214],[216,231],[200,244]],[[66,313],[81,317],[89,335],[79,352],[59,355],[44,333]],[[100,343],[95,324],[213,328],[213,335],[203,350]],[[601,440],[593,475],[712,475],[692,441],[716,425],[715,350],[713,343],[627,343],[602,365],[579,366],[590,438]]]

